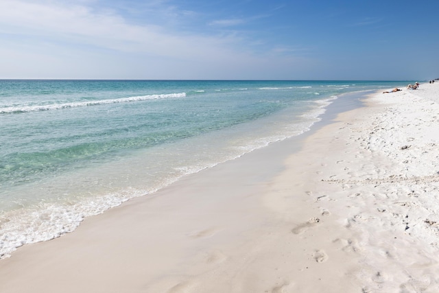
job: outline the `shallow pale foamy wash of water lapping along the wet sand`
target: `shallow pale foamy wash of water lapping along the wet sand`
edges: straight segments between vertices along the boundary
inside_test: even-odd
[[[348,93],[347,97],[353,95],[355,96],[356,93]],[[188,174],[198,173],[203,169],[213,167],[225,161],[237,159],[248,152],[264,148],[270,143],[283,141],[285,140],[283,137],[304,137],[304,135],[309,133],[308,129],[316,128],[313,127],[313,124],[319,123],[318,120],[326,120],[322,117],[326,117],[327,113],[331,111],[325,111],[325,108],[331,108],[334,104],[348,107],[356,103],[355,99],[352,102],[345,101],[340,103],[340,99],[343,99],[342,97],[344,96],[346,96],[346,94],[340,95],[338,99],[331,96],[326,98],[322,97],[322,99],[318,99],[318,101],[309,102],[311,104],[316,103],[316,105],[313,105],[313,108],[304,114],[305,117],[307,117],[305,118],[307,122],[303,124],[294,122],[299,121],[302,115],[297,115],[297,117],[291,119],[291,115],[294,115],[294,111],[293,113],[289,113],[289,115],[287,113],[279,115],[279,117],[283,116],[285,121],[291,121],[287,122],[287,124],[292,123],[291,125],[296,129],[294,132],[270,131],[270,125],[273,124],[273,121],[270,121],[270,119],[261,119],[261,121],[257,122],[259,127],[251,126],[250,124],[250,128],[248,128],[247,131],[245,131],[245,128],[248,126],[239,126],[232,130],[231,133],[230,130],[224,130],[229,131],[231,135],[235,135],[235,139],[238,141],[232,148],[228,145],[227,139],[224,145],[222,144],[222,140],[217,140],[217,137],[224,135],[227,137],[227,132],[221,130],[216,134],[203,134],[200,137],[193,138],[192,141],[189,141],[189,144],[195,143],[191,148],[187,148],[189,144],[185,141],[182,141],[182,143],[174,143],[171,146],[165,146],[165,148],[169,148],[165,150],[165,152],[169,154],[167,156],[163,156],[163,150],[161,150],[161,148],[158,148],[158,150],[152,148],[150,150],[139,151],[138,154],[134,155],[133,159],[126,158],[119,162],[116,160],[116,162],[110,165],[106,166],[106,164],[103,164],[101,166],[92,167],[85,172],[73,172],[67,175],[61,174],[52,180],[47,179],[35,183],[33,188],[32,185],[30,185],[30,187],[23,187],[22,190],[15,192],[17,194],[34,194],[34,192],[36,192],[34,196],[37,199],[46,191],[51,191],[51,195],[48,196],[48,200],[43,200],[40,204],[38,204],[38,202],[34,204],[29,203],[27,207],[23,206],[22,209],[9,212],[5,211],[5,213],[3,213],[1,217],[3,220],[0,219],[0,222],[2,222],[1,228],[4,229],[4,234],[0,235],[0,259],[7,258],[16,248],[24,244],[49,241],[64,234],[71,233],[80,225],[84,218],[117,207],[130,198],[154,196],[154,193],[158,189],[162,189],[166,185]],[[334,99],[335,102],[333,102]],[[348,98],[345,98],[345,100],[346,99]],[[328,104],[330,104],[330,106],[328,106]],[[346,104],[348,105],[346,106]],[[324,112],[323,115],[320,114],[322,112]],[[335,110],[332,112],[335,112]],[[282,119],[279,121],[281,120]],[[268,125],[268,129],[265,130],[265,135],[261,136],[263,139],[252,139],[251,134],[241,139],[241,136],[237,135],[239,132],[258,132],[265,124]],[[276,125],[276,123],[274,123],[274,125]],[[241,128],[241,130],[239,130],[239,128]],[[215,135],[217,137],[215,137]],[[206,140],[210,141],[210,146],[209,144],[206,145],[204,142]],[[215,155],[217,153],[215,150],[219,151],[218,156]],[[200,156],[197,154],[200,154]],[[154,160],[152,158],[157,159]],[[156,166],[155,169],[154,165]],[[161,167],[158,167],[158,165],[161,165]],[[86,169],[87,168],[84,168],[84,170]],[[162,170],[162,172],[158,172],[159,170]],[[166,176],[165,174],[168,175]],[[84,178],[94,178],[95,182],[99,182],[99,185],[102,187],[119,186],[118,182],[122,181],[124,183],[120,186],[125,184],[128,185],[129,188],[128,190],[124,190],[123,188],[108,188],[106,191],[102,189],[99,192],[97,191],[99,188],[97,188],[95,184],[90,183],[88,180],[84,182]],[[139,180],[135,178],[139,178]],[[62,186],[64,182],[69,184]],[[65,194],[65,200],[50,202],[50,198],[56,195],[53,190],[58,190],[59,194]],[[38,194],[38,191],[40,191],[41,194]],[[82,199],[77,199],[73,196],[72,200],[69,200],[69,194],[80,195],[88,193],[95,193],[95,196],[85,196]],[[7,189],[4,194],[8,194]],[[64,195],[62,197],[64,197]],[[47,218],[51,220],[45,220]],[[8,219],[12,220],[8,222]]]

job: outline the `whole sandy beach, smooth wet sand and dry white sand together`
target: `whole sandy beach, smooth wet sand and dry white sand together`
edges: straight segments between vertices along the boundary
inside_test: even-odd
[[[439,84],[187,175],[0,260],[0,292],[438,292]]]

